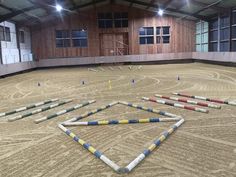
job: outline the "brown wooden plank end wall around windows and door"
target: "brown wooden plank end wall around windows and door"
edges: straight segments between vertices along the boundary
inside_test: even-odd
[[[128,12],[128,28],[100,29],[97,25],[98,12]],[[170,26],[170,43],[140,45],[139,28]],[[88,30],[88,47],[56,48],[55,30]],[[100,56],[99,34],[128,32],[129,54],[156,54],[195,51],[195,22],[172,16],[158,17],[155,13],[120,5],[105,5],[80,11],[63,20],[44,23],[32,28],[32,48],[36,59]],[[155,37],[154,37],[155,38]]]

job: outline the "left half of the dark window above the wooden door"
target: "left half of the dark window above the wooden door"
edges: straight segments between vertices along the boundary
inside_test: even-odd
[[[112,13],[98,13],[98,27],[112,28],[113,27]]]

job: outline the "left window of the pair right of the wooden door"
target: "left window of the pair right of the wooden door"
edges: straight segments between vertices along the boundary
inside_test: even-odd
[[[142,27],[139,29],[139,44],[153,44],[154,31],[153,27]]]

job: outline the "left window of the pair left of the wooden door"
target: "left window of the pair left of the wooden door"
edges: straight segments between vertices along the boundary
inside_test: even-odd
[[[70,33],[68,30],[56,30],[56,47],[70,47]]]

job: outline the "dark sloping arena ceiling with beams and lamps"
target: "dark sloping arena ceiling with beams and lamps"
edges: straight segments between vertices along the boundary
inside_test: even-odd
[[[61,13],[55,9],[56,3],[64,8]],[[107,4],[153,12],[161,8],[168,15],[208,21],[218,13],[229,13],[236,0],[0,0],[0,23],[10,20],[30,26]]]

